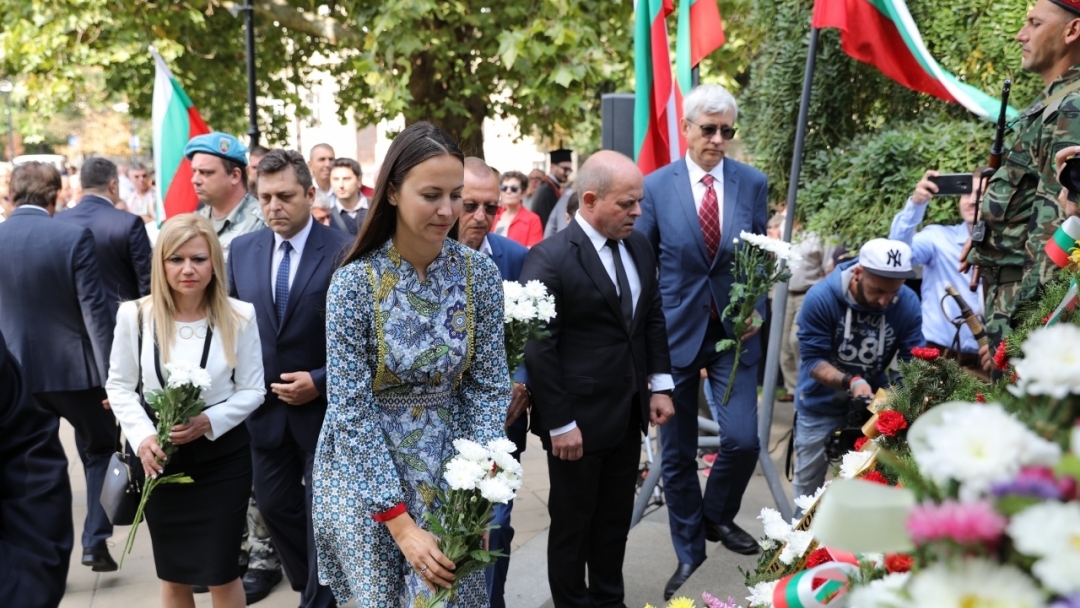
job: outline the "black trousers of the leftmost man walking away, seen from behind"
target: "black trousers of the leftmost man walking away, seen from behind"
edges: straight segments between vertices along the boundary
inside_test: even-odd
[[[86,474],[86,519],[82,528],[83,549],[105,549],[112,524],[102,506],[102,485],[109,459],[117,446],[117,419],[102,407],[105,389],[35,393],[33,401],[75,428],[75,445]]]

